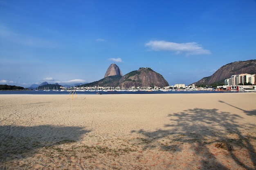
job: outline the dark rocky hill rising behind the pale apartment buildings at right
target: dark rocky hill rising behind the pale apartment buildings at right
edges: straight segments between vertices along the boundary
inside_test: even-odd
[[[256,60],[247,60],[232,62],[220,67],[213,75],[204,77],[198,82],[195,82],[195,86],[200,85],[213,85],[213,84],[224,84],[224,80],[230,78],[231,75],[238,74],[255,74],[256,73]]]

